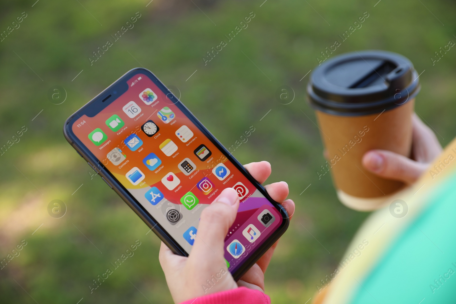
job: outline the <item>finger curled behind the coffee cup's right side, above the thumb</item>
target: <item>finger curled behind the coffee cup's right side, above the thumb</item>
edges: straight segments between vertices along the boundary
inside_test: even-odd
[[[434,160],[442,152],[442,146],[434,132],[414,113],[413,122],[413,158],[420,162]]]

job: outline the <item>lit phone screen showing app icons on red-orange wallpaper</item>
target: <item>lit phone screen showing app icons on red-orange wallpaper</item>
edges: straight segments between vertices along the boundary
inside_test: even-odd
[[[188,253],[203,209],[233,187],[240,206],[224,241],[233,273],[282,215],[152,79],[138,73],[127,83],[95,116],[78,116],[73,133]]]

